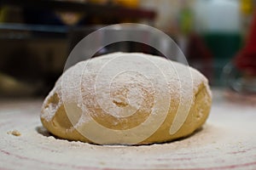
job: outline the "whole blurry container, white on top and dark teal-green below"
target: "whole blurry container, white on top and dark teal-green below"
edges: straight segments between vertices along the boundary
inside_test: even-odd
[[[232,0],[195,1],[195,30],[213,55],[214,85],[222,85],[221,72],[241,46],[240,4]]]

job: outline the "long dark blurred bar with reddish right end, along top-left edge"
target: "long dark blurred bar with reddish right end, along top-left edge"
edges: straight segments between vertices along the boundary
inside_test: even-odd
[[[22,8],[51,9],[59,11],[85,12],[94,16],[111,15],[118,18],[136,18],[154,20],[153,10],[142,8],[126,8],[114,4],[75,3],[55,0],[0,0],[0,5],[11,5]]]

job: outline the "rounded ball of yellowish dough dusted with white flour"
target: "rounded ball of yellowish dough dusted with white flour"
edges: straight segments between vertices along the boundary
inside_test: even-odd
[[[62,139],[153,144],[195,132],[211,103],[199,71],[149,54],[114,53],[65,71],[44,100],[41,122]]]

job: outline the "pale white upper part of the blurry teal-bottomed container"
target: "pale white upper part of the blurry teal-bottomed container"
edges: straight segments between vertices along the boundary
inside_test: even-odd
[[[238,0],[195,0],[195,29],[201,32],[240,32]]]

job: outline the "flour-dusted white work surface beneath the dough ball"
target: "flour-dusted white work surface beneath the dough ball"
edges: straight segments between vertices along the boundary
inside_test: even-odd
[[[55,139],[39,120],[42,99],[0,101],[0,169],[256,169],[256,106],[213,96],[201,131],[143,146]]]

